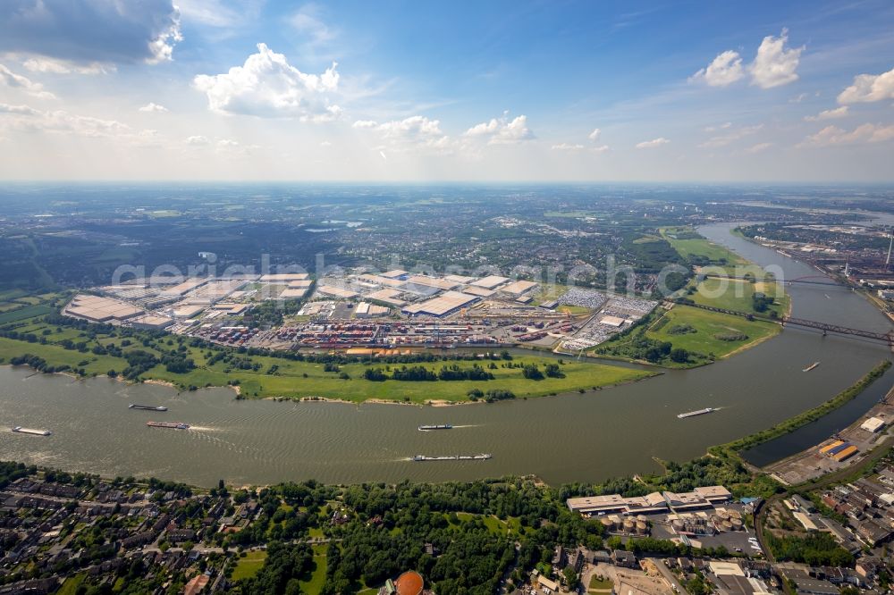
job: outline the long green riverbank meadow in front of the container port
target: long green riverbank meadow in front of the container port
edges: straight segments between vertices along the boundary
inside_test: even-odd
[[[46,307],[46,306],[33,306]],[[0,361],[8,362],[15,356],[31,354],[43,357],[48,365],[69,365],[72,368],[82,368],[87,375],[105,374],[110,370],[121,373],[127,367],[127,362],[121,357],[108,355],[94,355],[91,350],[97,345],[109,345],[114,343],[121,345],[120,338],[107,335],[97,335],[92,338],[85,331],[79,331],[69,327],[55,327],[43,323],[39,318],[19,321],[16,331],[20,333],[32,333],[39,339],[46,341],[28,342],[20,339],[0,338]],[[60,344],[64,340],[74,343],[83,342],[86,352],[75,349],[66,349]],[[175,337],[157,339],[150,343],[149,347],[141,345],[139,340],[133,340],[133,344],[124,348],[125,352],[134,349],[148,351],[156,356],[162,355],[162,349],[170,350],[177,345]],[[185,343],[184,343],[185,344]],[[362,402],[375,398],[390,401],[405,401],[417,404],[430,400],[466,401],[468,390],[510,390],[518,398],[540,397],[549,394],[572,392],[576,390],[589,390],[595,387],[611,386],[644,378],[648,373],[629,370],[618,366],[591,364],[588,362],[565,362],[561,365],[561,378],[544,378],[541,381],[527,380],[519,368],[503,367],[507,362],[495,362],[496,368],[489,370],[495,379],[492,381],[367,381],[363,377],[364,371],[370,367],[366,363],[352,363],[342,365],[336,372],[325,372],[323,364],[312,362],[291,361],[272,356],[245,356],[252,364],[257,364],[259,369],[242,370],[231,368],[231,364],[217,362],[213,365],[207,363],[207,349],[187,348],[185,353],[190,357],[196,368],[189,373],[168,372],[164,365],[156,365],[143,373],[144,380],[156,380],[170,382],[181,390],[190,387],[226,386],[231,382],[238,382],[240,391],[247,398],[329,398],[342,399],[354,402]],[[536,356],[515,357],[513,364],[533,364],[541,369],[548,363],[553,363],[552,358]],[[433,372],[437,372],[443,365],[451,362],[432,362],[418,364]],[[487,367],[489,362],[481,362]],[[417,365],[417,364],[411,364]],[[460,367],[468,368],[473,362],[459,362]],[[275,370],[272,368],[276,366]],[[373,363],[373,367],[386,367],[384,364]],[[392,365],[394,367],[394,365]],[[341,373],[348,375],[344,379]],[[385,373],[388,373],[385,370]]]

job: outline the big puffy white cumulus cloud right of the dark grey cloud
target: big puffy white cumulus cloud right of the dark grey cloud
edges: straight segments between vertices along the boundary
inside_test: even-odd
[[[305,74],[266,44],[257,44],[242,66],[223,74],[200,74],[193,86],[219,113],[262,117],[299,117],[302,122],[331,122],[342,112],[328,97],[338,88],[336,63],[322,74]]]

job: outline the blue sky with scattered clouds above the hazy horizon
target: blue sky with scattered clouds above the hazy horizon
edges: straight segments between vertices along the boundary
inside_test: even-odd
[[[0,180],[894,181],[894,3],[3,0]]]

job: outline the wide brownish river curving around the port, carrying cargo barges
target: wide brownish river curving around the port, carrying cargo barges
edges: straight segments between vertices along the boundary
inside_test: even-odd
[[[709,239],[785,278],[816,274],[767,248],[732,236],[729,223],[705,226]],[[847,289],[792,285],[793,314],[861,329],[890,328],[883,314]],[[816,406],[889,357],[885,346],[787,328],[746,352],[696,370],[670,371],[627,386],[493,405],[417,407],[235,400],[231,390],[181,393],[108,379],[76,381],[0,367],[0,459],[104,475],[155,475],[212,485],[472,480],[536,473],[546,482],[597,482],[657,471],[653,457],[683,461],[707,447],[766,428]],[[815,361],[810,373],[801,370]],[[892,375],[882,381],[889,388]],[[869,408],[866,399],[830,416],[831,431]],[[157,414],[129,403],[165,405]],[[720,407],[712,415],[677,414]],[[182,421],[189,431],[150,429]],[[418,432],[422,423],[451,431]],[[50,437],[9,432],[46,428]],[[5,427],[4,427],[5,425]],[[821,429],[820,432],[825,432]],[[824,434],[827,435],[827,434]],[[809,446],[764,448],[764,462]],[[794,434],[792,436],[795,436]],[[798,434],[798,440],[813,440]],[[416,454],[493,454],[489,461],[414,463]]]

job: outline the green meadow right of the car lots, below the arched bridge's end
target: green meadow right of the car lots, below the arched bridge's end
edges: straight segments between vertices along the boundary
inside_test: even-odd
[[[713,354],[717,358],[728,356],[731,352],[747,348],[757,341],[779,334],[782,328],[778,324],[760,321],[747,321],[745,318],[731,314],[720,314],[708,310],[700,310],[689,306],[674,306],[664,314],[667,322],[661,323],[656,331],[646,331],[646,336],[662,341],[671,341],[675,348],[684,348],[690,352]],[[695,332],[674,334],[674,329],[687,325]],[[744,335],[746,339],[722,340],[719,336]]]

